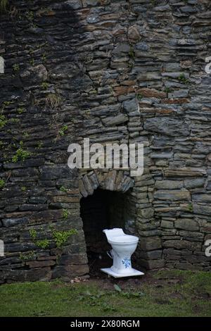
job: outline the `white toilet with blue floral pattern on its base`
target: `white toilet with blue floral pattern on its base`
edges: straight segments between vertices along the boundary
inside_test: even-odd
[[[125,235],[120,228],[106,229],[103,232],[112,246],[112,250],[107,253],[110,258],[113,258],[113,266],[101,270],[115,278],[144,275],[141,271],[132,268],[131,264],[131,256],[136,250],[139,238]]]

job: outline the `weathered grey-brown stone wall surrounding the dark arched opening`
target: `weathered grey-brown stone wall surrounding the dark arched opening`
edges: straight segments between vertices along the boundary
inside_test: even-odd
[[[145,145],[141,177],[99,175],[105,188],[128,185],[136,263],[210,270],[210,16],[210,0],[9,1],[0,282],[88,272],[79,199],[93,172],[67,166],[68,144],[84,137]],[[58,247],[53,233],[71,229]]]

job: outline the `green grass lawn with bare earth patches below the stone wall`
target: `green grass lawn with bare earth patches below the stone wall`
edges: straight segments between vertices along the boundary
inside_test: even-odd
[[[211,316],[211,273],[161,270],[139,279],[0,286],[0,316]]]

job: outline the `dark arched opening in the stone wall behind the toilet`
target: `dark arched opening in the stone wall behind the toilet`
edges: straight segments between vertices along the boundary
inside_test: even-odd
[[[107,251],[111,249],[103,229],[122,227],[129,233],[132,229],[129,192],[95,189],[92,195],[80,201],[80,216],[83,221],[90,275],[98,275],[100,268],[112,265]]]

